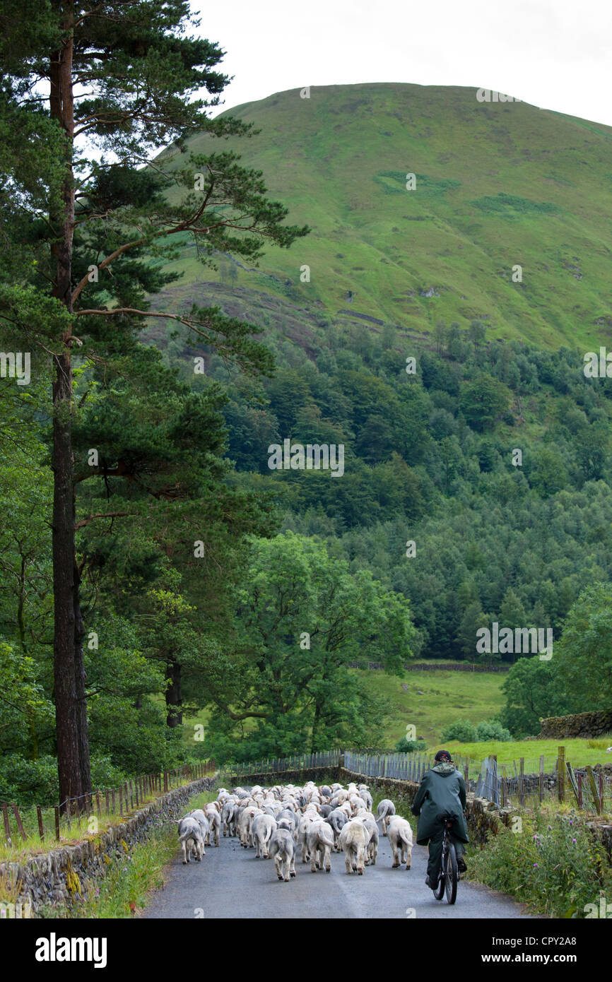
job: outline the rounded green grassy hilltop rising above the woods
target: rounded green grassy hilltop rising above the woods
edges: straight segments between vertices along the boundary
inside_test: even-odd
[[[259,271],[237,265],[242,292],[418,331],[477,317],[490,338],[551,348],[587,350],[612,335],[611,128],[480,103],[472,88],[399,83],[312,88],[309,99],[280,92],[231,115],[260,133],[229,146],[263,172],[292,223],[312,228],[289,251],[270,248]],[[522,283],[512,282],[515,264]],[[170,296],[197,296],[202,269],[189,248],[176,267],[185,277]]]

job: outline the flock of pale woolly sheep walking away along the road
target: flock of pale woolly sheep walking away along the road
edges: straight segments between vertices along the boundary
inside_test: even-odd
[[[272,856],[279,880],[289,882],[296,875],[296,853],[310,870],[331,869],[331,852],[344,852],[347,873],[362,876],[363,868],[375,865],[378,853],[378,826],[388,835],[393,851],[393,868],[406,863],[411,868],[413,831],[405,818],[395,813],[395,805],[383,798],[372,811],[372,796],[366,785],[347,788],[333,784],[316,786],[274,785],[249,791],[222,788],[216,801],[196,808],[179,821],[179,841],[183,862],[205,855],[211,840],[219,845],[223,836],[240,838],[241,846],[254,848],[257,858]]]

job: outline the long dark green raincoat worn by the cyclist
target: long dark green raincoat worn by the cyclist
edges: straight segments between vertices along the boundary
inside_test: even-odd
[[[445,813],[455,816],[455,839],[462,843],[470,842],[464,816],[465,807],[466,782],[454,764],[441,761],[427,771],[418,786],[411,808],[413,815],[418,815],[418,846],[426,846],[430,839],[439,838],[441,817]]]

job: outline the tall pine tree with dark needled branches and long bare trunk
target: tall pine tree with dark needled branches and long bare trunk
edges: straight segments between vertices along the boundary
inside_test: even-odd
[[[187,156],[185,140],[195,132],[248,134],[240,122],[209,119],[228,79],[215,70],[219,46],[188,33],[197,26],[189,7],[183,0],[4,0],[0,9],[3,338],[18,351],[26,343],[50,357],[54,370],[54,689],[62,801],[89,791],[74,353],[96,364],[124,357],[129,372],[145,318],[172,317],[241,367],[268,369],[269,356],[251,340],[250,325],[210,307],[152,310],[146,298],[169,282],[163,259],[188,238],[202,262],[216,250],[252,261],[266,241],[289,246],[307,232],[282,224],[286,210],[267,200],[260,174],[242,168],[234,154]],[[196,97],[202,91],[206,98]],[[167,144],[172,152],[156,158]],[[170,187],[172,195],[165,193]]]

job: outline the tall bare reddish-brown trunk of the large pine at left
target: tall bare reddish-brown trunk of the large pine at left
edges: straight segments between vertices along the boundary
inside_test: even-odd
[[[65,5],[72,18],[73,5]],[[52,246],[56,260],[53,296],[72,311],[72,251],[75,192],[72,171],[74,138],[73,40],[51,55],[49,109],[64,130],[66,142],[62,208],[51,214],[58,230]],[[80,576],[75,548],[75,490],[72,447],[72,332],[62,334],[63,350],[53,356],[53,667],[55,726],[60,801],[89,791],[89,749],[83,669],[83,621]]]

